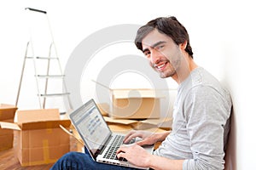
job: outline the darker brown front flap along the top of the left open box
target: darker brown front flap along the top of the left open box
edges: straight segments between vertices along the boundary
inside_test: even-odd
[[[44,121],[44,122],[25,122],[20,124],[22,130],[32,130],[32,129],[47,129],[47,128],[57,128],[69,127],[71,124],[70,120],[58,120],[58,121]]]

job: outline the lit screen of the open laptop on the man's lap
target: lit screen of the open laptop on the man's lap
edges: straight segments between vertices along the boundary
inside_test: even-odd
[[[82,105],[70,114],[73,125],[79,131],[81,138],[92,156],[102,148],[108,140],[111,131],[98,110],[93,99]]]

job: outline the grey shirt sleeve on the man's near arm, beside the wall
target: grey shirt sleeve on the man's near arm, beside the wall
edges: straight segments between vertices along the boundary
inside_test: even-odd
[[[224,131],[230,117],[224,96],[212,87],[197,86],[183,108],[193,155],[183,161],[183,170],[224,169]]]

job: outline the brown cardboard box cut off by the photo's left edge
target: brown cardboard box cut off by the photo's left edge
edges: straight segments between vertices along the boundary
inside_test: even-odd
[[[14,122],[15,105],[0,104],[0,122]],[[14,145],[14,131],[0,128],[0,151],[8,150]]]

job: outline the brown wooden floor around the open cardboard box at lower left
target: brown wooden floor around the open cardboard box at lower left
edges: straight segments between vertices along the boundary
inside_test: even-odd
[[[15,134],[15,133],[14,133]],[[70,137],[70,150],[77,150],[76,141],[73,137]],[[16,139],[16,138],[15,138]],[[15,156],[15,144],[16,140],[14,139],[14,148],[9,150],[0,151],[0,169],[1,170],[49,170],[53,164],[31,166],[31,167],[21,167],[20,161]]]

